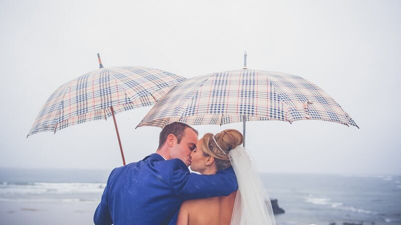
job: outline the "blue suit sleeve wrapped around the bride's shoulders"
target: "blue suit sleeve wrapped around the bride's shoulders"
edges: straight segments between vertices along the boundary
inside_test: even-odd
[[[228,196],[238,189],[237,177],[233,167],[220,170],[214,175],[190,173],[179,159],[170,170],[171,188],[182,200]]]

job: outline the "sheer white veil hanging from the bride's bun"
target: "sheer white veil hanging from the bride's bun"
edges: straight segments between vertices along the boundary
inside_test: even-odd
[[[249,151],[237,146],[229,152],[238,181],[231,225],[276,225],[269,195]]]

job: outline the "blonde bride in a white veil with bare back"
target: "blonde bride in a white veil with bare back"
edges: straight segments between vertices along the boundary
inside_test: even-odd
[[[238,191],[229,196],[184,201],[177,225],[275,225],[270,198],[257,173],[255,160],[241,146],[243,136],[227,129],[205,134],[191,153],[191,170],[215,174],[233,166]]]

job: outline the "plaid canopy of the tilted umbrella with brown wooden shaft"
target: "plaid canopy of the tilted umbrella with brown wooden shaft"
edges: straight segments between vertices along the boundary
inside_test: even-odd
[[[28,136],[150,106],[185,78],[146,67],[101,68],[60,86],[46,101]],[[27,136],[27,137],[28,137]]]

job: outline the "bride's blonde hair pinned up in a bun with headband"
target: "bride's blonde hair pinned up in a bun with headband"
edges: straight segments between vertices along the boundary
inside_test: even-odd
[[[223,151],[217,146],[213,140],[213,136],[215,136],[217,144]],[[219,171],[231,166],[229,152],[238,145],[241,145],[243,140],[244,137],[241,132],[236,129],[223,130],[216,135],[207,133],[203,136],[202,150],[204,151],[204,156],[215,158],[216,168]]]

